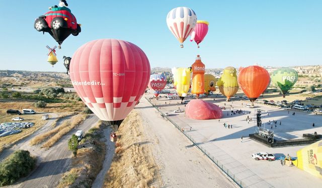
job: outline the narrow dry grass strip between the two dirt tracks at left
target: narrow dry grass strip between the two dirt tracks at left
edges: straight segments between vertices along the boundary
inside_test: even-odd
[[[67,134],[71,129],[83,123],[87,115],[76,115],[71,121],[65,121],[63,125],[57,127],[55,134],[50,137],[41,147],[50,148],[53,146],[63,135]],[[53,129],[53,130],[55,130]]]

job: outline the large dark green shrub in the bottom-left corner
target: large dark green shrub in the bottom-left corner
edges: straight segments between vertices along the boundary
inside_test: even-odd
[[[36,158],[29,151],[17,150],[0,163],[0,186],[14,183],[36,167]]]

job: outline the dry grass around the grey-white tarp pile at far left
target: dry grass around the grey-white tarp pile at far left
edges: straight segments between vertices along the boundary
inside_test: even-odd
[[[7,115],[5,113],[1,113],[0,122],[12,122],[11,119],[17,116],[18,115]],[[35,125],[31,128],[22,129],[22,131],[18,134],[0,137],[0,152],[2,152],[2,150],[5,148],[10,147],[12,144],[15,144],[16,142],[33,134],[36,130],[46,124],[47,121],[43,121],[41,116],[42,114],[21,115],[21,117],[25,118],[24,122],[32,122]]]

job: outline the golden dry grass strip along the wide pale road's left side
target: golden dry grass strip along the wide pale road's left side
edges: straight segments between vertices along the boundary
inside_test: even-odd
[[[156,163],[144,142],[142,119],[132,111],[117,131],[118,141],[111,167],[105,175],[104,187],[152,187]]]

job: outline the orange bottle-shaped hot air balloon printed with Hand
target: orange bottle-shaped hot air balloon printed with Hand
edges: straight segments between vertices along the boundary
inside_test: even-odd
[[[204,75],[205,75],[205,65],[201,62],[201,58],[198,55],[194,64],[192,64],[192,88],[191,93],[197,94],[199,98],[200,94],[205,93],[204,87]]]

